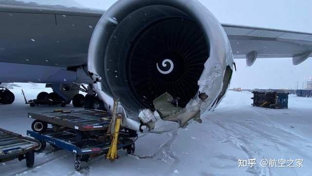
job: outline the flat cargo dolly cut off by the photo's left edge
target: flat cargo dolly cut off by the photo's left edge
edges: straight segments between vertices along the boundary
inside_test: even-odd
[[[26,159],[26,166],[33,167],[38,147],[39,141],[0,128],[0,162]]]

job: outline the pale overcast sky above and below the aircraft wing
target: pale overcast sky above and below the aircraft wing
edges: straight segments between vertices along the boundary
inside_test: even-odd
[[[117,0],[25,0],[107,9]],[[221,23],[276,28],[312,33],[312,0],[199,0]],[[291,58],[258,59],[246,67],[236,60],[231,87],[296,88],[296,82],[312,77],[312,58],[299,66]]]

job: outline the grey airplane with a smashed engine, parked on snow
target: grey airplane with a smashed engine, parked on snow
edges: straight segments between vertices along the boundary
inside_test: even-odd
[[[110,112],[119,99],[134,131],[200,122],[226,94],[234,59],[312,56],[312,34],[222,24],[197,0],[118,0],[106,11],[1,3],[0,82],[46,83]],[[75,99],[81,84],[89,93]]]

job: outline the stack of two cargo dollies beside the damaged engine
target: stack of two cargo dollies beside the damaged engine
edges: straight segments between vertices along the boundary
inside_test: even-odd
[[[55,110],[52,113],[28,113],[35,119],[32,130],[27,135],[40,141],[43,151],[46,143],[54,149],[65,149],[75,155],[75,170],[81,168],[81,161],[88,161],[91,156],[106,154],[111,145],[111,136],[107,133],[112,116],[101,110]],[[48,128],[50,124],[52,127]],[[117,149],[135,151],[137,133],[122,129],[119,131]]]

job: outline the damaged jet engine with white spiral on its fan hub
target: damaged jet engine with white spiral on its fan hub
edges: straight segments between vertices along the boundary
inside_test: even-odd
[[[227,35],[197,0],[119,0],[98,21],[88,53],[101,99],[111,109],[118,97],[130,117],[154,111],[166,92],[183,112],[214,110],[233,63]]]

